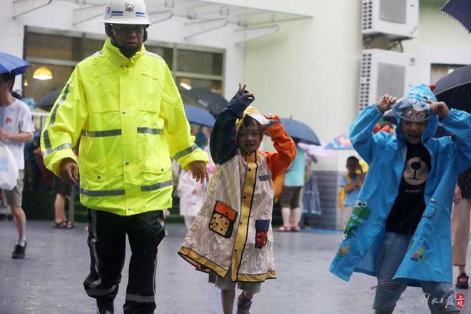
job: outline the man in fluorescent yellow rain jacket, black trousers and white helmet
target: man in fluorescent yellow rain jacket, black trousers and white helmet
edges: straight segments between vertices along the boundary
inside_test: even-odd
[[[103,49],[81,61],[41,134],[44,163],[76,184],[87,208],[90,274],[86,293],[98,313],[113,313],[131,246],[124,313],[156,308],[161,211],[171,207],[171,158],[196,180],[207,178],[206,153],[190,135],[178,89],[165,61],[143,46],[150,24],[143,0],[108,0]],[[72,147],[81,144],[77,165]]]

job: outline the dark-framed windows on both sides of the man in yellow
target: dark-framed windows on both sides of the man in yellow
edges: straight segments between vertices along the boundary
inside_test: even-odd
[[[38,103],[50,91],[63,88],[78,62],[103,47],[106,36],[26,26],[24,58],[33,64],[24,75],[25,97]],[[146,41],[146,49],[166,61],[178,88],[202,87],[223,93],[222,49]],[[34,71],[49,69],[52,78],[39,80]]]

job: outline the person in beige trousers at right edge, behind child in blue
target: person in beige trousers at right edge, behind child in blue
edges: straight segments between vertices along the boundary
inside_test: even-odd
[[[466,274],[467,247],[470,243],[470,213],[471,213],[471,166],[460,173],[455,188],[452,207],[452,252],[453,266],[458,267],[456,287],[468,288]]]

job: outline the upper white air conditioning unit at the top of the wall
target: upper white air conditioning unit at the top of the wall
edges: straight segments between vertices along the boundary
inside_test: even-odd
[[[362,0],[362,34],[392,39],[417,37],[418,0]]]

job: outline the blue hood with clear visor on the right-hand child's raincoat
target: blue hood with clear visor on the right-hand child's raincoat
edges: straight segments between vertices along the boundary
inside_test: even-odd
[[[405,118],[407,116],[407,111],[423,111],[427,116],[427,118],[424,119],[427,120],[427,127],[425,128],[424,133],[422,133],[422,143],[428,138],[431,138],[437,131],[438,116],[430,110],[430,106],[428,103],[425,103],[425,101],[436,102],[437,98],[430,87],[425,84],[420,84],[410,88],[404,98],[399,99],[393,106],[394,115],[397,120],[396,136],[401,143],[405,143],[407,141],[402,133],[401,123],[402,120],[407,119]]]

